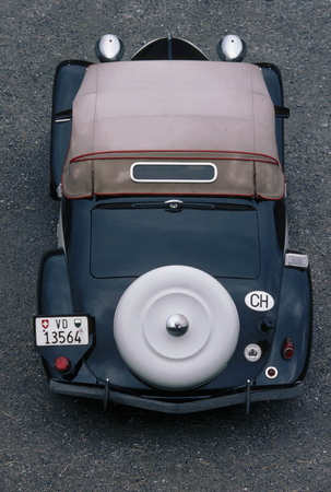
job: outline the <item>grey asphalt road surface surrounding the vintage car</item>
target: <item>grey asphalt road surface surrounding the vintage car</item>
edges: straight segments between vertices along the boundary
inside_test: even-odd
[[[331,490],[330,0],[2,0],[1,26],[1,490]],[[247,61],[283,72],[289,244],[307,253],[315,339],[305,396],[201,414],[163,415],[51,394],[32,340],[42,254],[56,247],[48,196],[54,70],[95,61],[113,32],[125,59],[167,35],[211,59],[226,33]]]

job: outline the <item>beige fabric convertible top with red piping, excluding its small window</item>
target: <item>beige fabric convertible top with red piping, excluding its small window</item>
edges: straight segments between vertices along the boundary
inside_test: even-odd
[[[141,184],[132,163],[212,162],[212,184]],[[91,66],[73,102],[63,169],[69,198],[118,194],[277,199],[284,180],[274,107],[256,66],[127,61]]]

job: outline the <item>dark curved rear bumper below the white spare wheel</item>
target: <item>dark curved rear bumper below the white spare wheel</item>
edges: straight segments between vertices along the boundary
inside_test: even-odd
[[[60,383],[55,379],[50,379],[49,389],[60,395],[104,400],[105,406],[107,406],[108,401],[113,401],[115,403],[127,405],[129,407],[137,407],[163,413],[193,413],[222,407],[230,407],[233,405],[246,405],[246,410],[248,413],[249,406],[253,401],[282,400],[302,396],[304,394],[304,383],[298,383],[291,387],[249,389],[232,395],[203,398],[185,402],[156,400],[113,391],[107,387],[99,388],[94,386]]]

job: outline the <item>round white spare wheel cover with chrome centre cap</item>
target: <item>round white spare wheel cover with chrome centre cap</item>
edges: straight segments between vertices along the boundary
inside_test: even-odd
[[[188,389],[225,367],[237,345],[239,317],[228,292],[210,274],[161,267],[126,290],[114,335],[138,377],[165,389]]]

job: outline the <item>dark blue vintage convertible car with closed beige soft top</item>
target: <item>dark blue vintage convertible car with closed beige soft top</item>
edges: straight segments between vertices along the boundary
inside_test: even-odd
[[[303,394],[308,258],[287,244],[283,87],[228,35],[210,61],[156,39],[63,61],[52,102],[58,247],[36,350],[49,388],[187,413]]]

